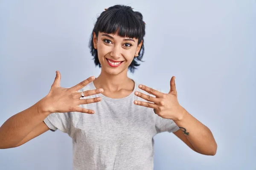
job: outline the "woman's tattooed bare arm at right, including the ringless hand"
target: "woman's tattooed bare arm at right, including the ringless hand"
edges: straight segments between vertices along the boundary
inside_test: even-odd
[[[179,104],[177,100],[175,77],[172,77],[170,80],[170,87],[169,93],[164,94],[145,85],[139,85],[140,89],[148,92],[149,94],[153,94],[156,97],[136,91],[135,95],[147,100],[148,102],[135,100],[134,104],[153,108],[154,113],[158,116],[164,119],[172,119],[186,135],[186,138],[181,136],[179,130],[179,132],[175,133],[176,136],[183,140],[183,142],[188,144],[189,147],[191,147],[192,144],[193,148],[198,153],[202,153],[204,155],[215,155],[217,144],[212,136],[212,132]]]

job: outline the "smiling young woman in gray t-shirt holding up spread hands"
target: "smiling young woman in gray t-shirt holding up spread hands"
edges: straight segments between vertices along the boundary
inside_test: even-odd
[[[211,131],[177,101],[175,77],[165,94],[127,76],[143,58],[144,36],[140,12],[121,5],[105,9],[90,41],[99,77],[62,88],[56,71],[49,94],[0,127],[0,148],[59,129],[73,139],[73,169],[153,170],[153,137],[168,131],[192,150],[215,155]]]

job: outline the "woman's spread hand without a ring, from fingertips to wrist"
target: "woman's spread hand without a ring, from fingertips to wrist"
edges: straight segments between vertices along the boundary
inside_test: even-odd
[[[148,108],[153,108],[154,113],[165,119],[180,120],[184,108],[179,104],[177,99],[177,91],[175,86],[175,77],[173,76],[170,81],[170,91],[168,94],[156,91],[153,88],[149,88],[145,85],[139,85],[139,88],[153,94],[156,97],[149,96],[138,91],[135,91],[135,95],[139,96],[148,102],[142,102],[134,100],[135,105],[141,105]]]

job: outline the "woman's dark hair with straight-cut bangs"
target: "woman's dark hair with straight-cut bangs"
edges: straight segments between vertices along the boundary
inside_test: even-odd
[[[118,32],[116,32],[117,30]],[[105,9],[105,11],[100,14],[93,28],[93,32],[95,32],[96,37],[98,37],[99,32],[107,34],[117,33],[120,37],[136,38],[138,39],[138,44],[140,44],[141,41],[144,43],[145,23],[142,14],[138,11],[133,11],[131,6],[115,5]],[[90,37],[90,53],[93,55],[95,65],[99,65],[99,68],[101,68],[98,52],[93,46],[93,32]],[[139,51],[139,56],[134,57],[128,67],[131,73],[134,73],[134,70],[140,65],[136,59],[143,62],[141,60],[143,54],[144,44]]]

